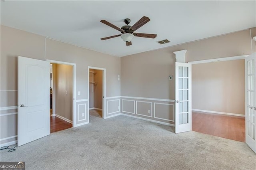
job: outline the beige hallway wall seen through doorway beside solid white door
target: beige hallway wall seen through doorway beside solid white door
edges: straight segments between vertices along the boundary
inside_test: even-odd
[[[55,114],[73,121],[73,66],[55,64],[53,74],[56,75]]]

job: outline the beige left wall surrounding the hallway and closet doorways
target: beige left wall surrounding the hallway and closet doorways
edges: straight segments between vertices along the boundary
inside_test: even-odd
[[[81,95],[76,95],[76,121],[79,124],[85,123],[88,118],[82,116],[88,109],[88,66],[106,68],[106,97],[120,96],[120,57],[114,57],[104,53],[58,42],[24,32],[14,28],[1,25],[1,58],[0,58],[0,114],[6,117],[2,121],[8,120],[8,125],[1,127],[0,138],[8,138],[14,134],[10,140],[16,140],[17,117],[17,90],[18,90],[18,55],[34,59],[50,59],[76,63],[76,91]],[[46,46],[45,46],[46,43]],[[46,49],[46,53],[44,50]],[[44,57],[45,56],[45,57]],[[120,97],[119,97],[120,98]],[[118,106],[115,106],[118,107]],[[14,109],[13,109],[14,108]],[[7,109],[7,110],[2,110]],[[50,113],[49,113],[50,114]],[[6,140],[2,140],[1,143]]]

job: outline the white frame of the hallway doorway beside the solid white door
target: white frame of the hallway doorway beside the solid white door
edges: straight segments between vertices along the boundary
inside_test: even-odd
[[[46,59],[46,61],[49,61],[50,63],[54,64],[65,64],[65,65],[72,65],[73,66],[73,113],[72,113],[72,127],[76,127],[76,63],[70,63],[70,62],[64,62],[64,61],[56,61],[51,59]],[[52,77],[54,76],[54,73],[52,73]],[[56,89],[53,89],[55,92]],[[54,104],[53,104],[54,103]],[[55,95],[52,98],[52,112],[55,114]]]

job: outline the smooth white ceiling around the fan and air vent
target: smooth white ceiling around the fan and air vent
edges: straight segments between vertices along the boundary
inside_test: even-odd
[[[126,46],[120,34],[100,20],[122,27],[142,16],[150,22],[136,30],[157,34],[135,37]],[[1,24],[122,57],[256,27],[256,1],[1,1]],[[159,45],[156,41],[169,39]]]

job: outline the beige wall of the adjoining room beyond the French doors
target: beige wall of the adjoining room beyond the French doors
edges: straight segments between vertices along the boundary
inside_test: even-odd
[[[192,109],[245,113],[244,59],[192,65]]]

